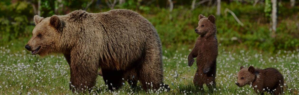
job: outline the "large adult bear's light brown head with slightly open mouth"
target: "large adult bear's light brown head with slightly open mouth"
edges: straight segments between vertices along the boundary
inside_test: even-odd
[[[57,50],[59,32],[61,32],[62,22],[57,15],[43,18],[35,15],[33,18],[35,28],[32,37],[25,48],[31,51],[32,55],[46,55]]]

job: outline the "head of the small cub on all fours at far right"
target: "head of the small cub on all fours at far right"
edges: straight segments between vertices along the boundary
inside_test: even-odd
[[[255,74],[252,68],[252,66],[248,69],[244,68],[243,66],[240,67],[240,71],[237,73],[237,86],[242,87],[244,85],[250,85],[250,83],[254,81]]]

